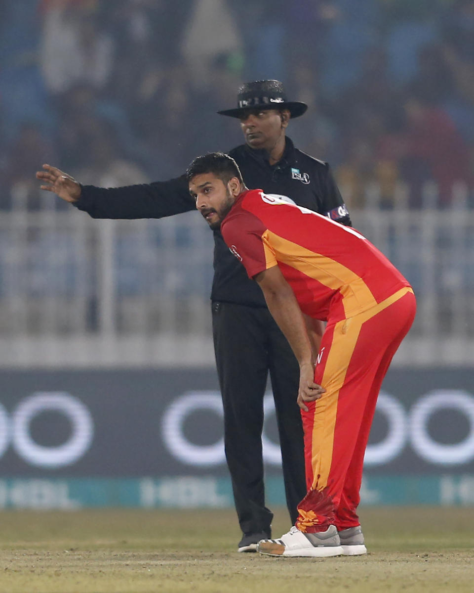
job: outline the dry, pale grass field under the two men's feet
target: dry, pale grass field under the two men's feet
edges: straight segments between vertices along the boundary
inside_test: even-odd
[[[474,509],[365,508],[369,554],[236,553],[233,511],[2,512],[1,593],[474,592]],[[273,535],[289,525],[276,509]]]

